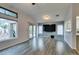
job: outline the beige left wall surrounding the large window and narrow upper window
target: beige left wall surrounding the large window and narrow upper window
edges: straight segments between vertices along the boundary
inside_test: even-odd
[[[6,7],[8,9],[18,12],[18,19],[15,19],[15,18],[12,18],[9,16],[5,16],[5,15],[0,15],[0,17],[18,20],[18,22],[17,22],[18,23],[18,38],[0,42],[0,50],[10,47],[10,46],[13,46],[18,43],[27,41],[28,40],[28,33],[29,33],[28,32],[29,23],[35,24],[35,21],[33,21],[33,19],[30,16],[27,16],[21,10],[16,9],[12,6],[9,6],[8,4],[0,4],[0,6]]]

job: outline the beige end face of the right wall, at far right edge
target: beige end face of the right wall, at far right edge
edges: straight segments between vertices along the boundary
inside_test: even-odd
[[[72,37],[73,37],[73,46],[76,49],[76,16],[79,16],[79,3],[73,4],[72,7],[73,7],[72,21],[73,21],[73,31],[74,31]]]

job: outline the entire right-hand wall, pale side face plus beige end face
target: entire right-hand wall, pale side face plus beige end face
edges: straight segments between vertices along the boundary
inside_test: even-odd
[[[78,6],[79,8],[79,6]],[[72,49],[76,49],[76,13],[78,13],[79,10],[76,10],[75,4],[71,4],[71,7],[68,11],[68,15],[65,18],[64,22],[64,40],[68,43],[68,45]],[[71,32],[66,31],[66,22],[70,20],[71,21]]]

